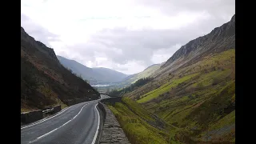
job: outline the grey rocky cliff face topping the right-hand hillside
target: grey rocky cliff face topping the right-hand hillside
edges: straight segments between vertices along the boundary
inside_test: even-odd
[[[210,34],[196,38],[182,46],[161,68],[176,70],[186,62],[189,65],[192,64],[191,62],[198,62],[200,58],[208,54],[216,54],[234,48],[235,15],[231,18],[230,22],[214,28]]]

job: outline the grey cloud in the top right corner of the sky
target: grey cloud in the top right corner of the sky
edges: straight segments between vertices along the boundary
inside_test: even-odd
[[[150,6],[162,11],[163,14],[173,16],[181,11],[200,12],[207,11],[216,18],[223,14],[230,17],[234,15],[234,0],[139,0],[142,6]]]

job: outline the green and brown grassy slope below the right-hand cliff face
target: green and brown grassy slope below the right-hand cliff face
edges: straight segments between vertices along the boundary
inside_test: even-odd
[[[149,88],[142,86],[127,95],[140,98],[137,102],[168,123],[172,142],[204,142],[206,136],[212,142],[234,142],[234,51],[175,71],[150,92],[136,95]]]

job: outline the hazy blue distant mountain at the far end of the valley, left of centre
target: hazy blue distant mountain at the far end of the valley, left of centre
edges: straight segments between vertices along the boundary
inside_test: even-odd
[[[119,82],[126,78],[126,74],[122,74],[115,70],[110,70],[102,67],[90,68],[82,65],[79,62],[57,56],[63,66],[74,71],[75,74],[81,75],[82,78],[88,80],[90,84]]]

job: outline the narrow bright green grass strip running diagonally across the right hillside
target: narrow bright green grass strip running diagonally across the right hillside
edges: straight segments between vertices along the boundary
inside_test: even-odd
[[[157,98],[160,94],[164,94],[167,91],[170,91],[170,89],[172,87],[178,86],[178,84],[180,84],[182,82],[186,82],[186,80],[189,80],[190,78],[193,78],[193,77],[197,76],[198,74],[199,73],[190,74],[190,75],[187,75],[187,76],[182,77],[182,78],[174,79],[172,82],[168,82],[165,85],[160,86],[158,89],[152,90],[149,93],[142,95],[142,98],[139,99],[137,102],[138,103],[148,102],[153,98]]]

